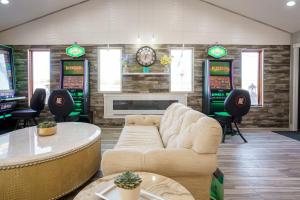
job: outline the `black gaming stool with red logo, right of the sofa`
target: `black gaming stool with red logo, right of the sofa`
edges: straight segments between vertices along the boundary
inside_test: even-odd
[[[223,127],[223,142],[225,142],[225,136],[229,132],[231,135],[238,134],[247,142],[244,136],[241,134],[237,123],[241,123],[242,117],[246,115],[251,107],[250,94],[247,90],[234,89],[229,96],[225,99],[224,107],[226,112],[216,112],[216,119],[221,123]],[[232,128],[232,123],[235,125],[236,130]]]

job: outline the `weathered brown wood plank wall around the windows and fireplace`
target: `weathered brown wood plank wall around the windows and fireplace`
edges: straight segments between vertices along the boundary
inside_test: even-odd
[[[123,55],[129,57],[129,67],[136,67],[135,53],[142,45],[113,45],[123,48]],[[123,119],[103,118],[103,94],[97,91],[97,48],[101,45],[85,46],[86,55],[90,61],[90,90],[93,121],[103,127],[121,127]],[[173,47],[181,45],[153,45],[158,55],[168,54]],[[188,105],[196,110],[202,110],[203,60],[207,58],[208,45],[186,45],[194,49],[194,92],[188,94]],[[264,106],[253,107],[244,118],[243,126],[287,128],[289,126],[289,87],[290,87],[290,46],[289,45],[225,45],[228,49],[228,59],[234,59],[234,85],[241,85],[241,51],[243,49],[264,50]],[[27,96],[27,50],[29,48],[49,48],[51,50],[51,89],[59,87],[60,60],[68,59],[64,45],[52,46],[14,46],[17,93]],[[158,57],[159,57],[158,56]],[[160,67],[159,61],[155,67]],[[168,92],[169,77],[166,75],[123,76],[123,92],[152,93]],[[44,114],[44,117],[49,116]]]

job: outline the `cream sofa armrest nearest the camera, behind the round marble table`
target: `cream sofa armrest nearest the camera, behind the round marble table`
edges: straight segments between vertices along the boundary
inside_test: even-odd
[[[146,171],[168,177],[198,176],[211,175],[216,167],[216,154],[197,154],[191,149],[157,149],[148,152],[108,150],[101,162],[104,175]]]

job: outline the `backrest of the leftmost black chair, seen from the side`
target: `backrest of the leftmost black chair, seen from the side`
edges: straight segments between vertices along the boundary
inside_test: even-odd
[[[45,107],[46,90],[42,88],[35,89],[31,99],[30,108],[40,113]]]

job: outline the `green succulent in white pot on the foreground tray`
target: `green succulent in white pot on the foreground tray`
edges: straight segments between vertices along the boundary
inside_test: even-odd
[[[138,174],[124,172],[116,177],[114,183],[119,189],[120,200],[139,199],[142,179]]]

